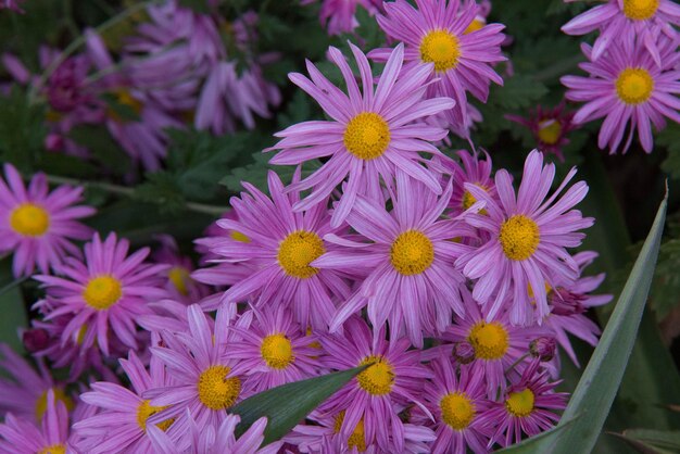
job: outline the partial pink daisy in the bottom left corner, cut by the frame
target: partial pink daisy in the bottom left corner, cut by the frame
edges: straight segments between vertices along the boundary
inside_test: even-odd
[[[5,454],[65,454],[73,452],[68,437],[68,412],[50,390],[41,425],[8,414],[0,424],[0,452]]]

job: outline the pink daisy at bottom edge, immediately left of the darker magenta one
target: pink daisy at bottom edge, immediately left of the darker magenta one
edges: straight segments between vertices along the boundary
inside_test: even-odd
[[[451,356],[442,355],[430,363],[433,377],[425,383],[425,405],[435,416],[437,439],[431,443],[433,454],[487,453],[491,432],[480,424],[489,408],[487,384],[479,370],[454,366]],[[418,415],[419,416],[419,415]],[[431,426],[427,418],[420,423]]]

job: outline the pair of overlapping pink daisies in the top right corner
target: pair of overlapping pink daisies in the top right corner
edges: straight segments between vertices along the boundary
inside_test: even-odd
[[[566,0],[568,1],[568,0]],[[574,122],[603,118],[597,146],[612,154],[630,148],[635,131],[642,149],[654,147],[652,126],[680,123],[680,5],[671,0],[608,0],[578,15],[562,29],[569,35],[599,31],[582,43],[589,76],[564,76],[566,99],[584,102]],[[628,130],[628,134],[627,134]]]

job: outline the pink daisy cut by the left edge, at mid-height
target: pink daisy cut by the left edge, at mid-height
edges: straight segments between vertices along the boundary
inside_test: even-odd
[[[4,165],[4,178],[0,178],[0,253],[14,253],[14,277],[30,276],[36,266],[50,273],[64,257],[79,256],[72,240],[85,240],[92,230],[77,219],[95,214],[90,206],[76,205],[83,188],[60,186],[48,192],[41,173],[26,188],[11,164]]]

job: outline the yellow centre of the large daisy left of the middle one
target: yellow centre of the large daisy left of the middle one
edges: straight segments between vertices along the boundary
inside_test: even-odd
[[[307,279],[318,273],[310,263],[326,252],[324,242],[313,231],[297,230],[281,241],[278,263],[288,276]]]

